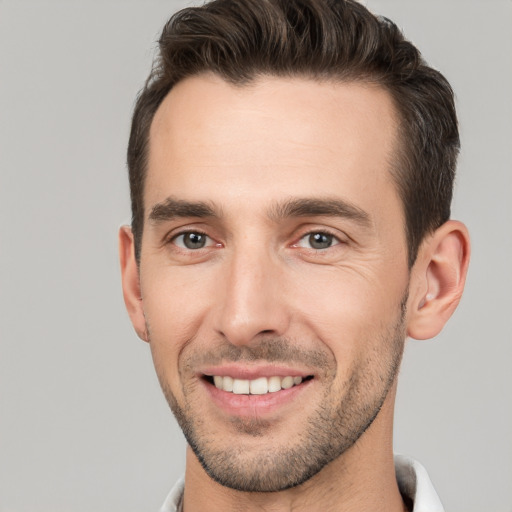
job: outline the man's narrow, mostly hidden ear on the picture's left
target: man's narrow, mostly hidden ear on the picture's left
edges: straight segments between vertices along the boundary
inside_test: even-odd
[[[129,226],[121,226],[119,229],[119,260],[121,262],[123,297],[128,315],[130,315],[137,336],[141,340],[148,341],[140,293],[139,267],[135,258],[133,233]]]

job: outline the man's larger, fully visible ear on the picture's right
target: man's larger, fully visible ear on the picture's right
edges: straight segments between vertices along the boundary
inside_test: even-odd
[[[420,247],[411,275],[407,334],[417,340],[441,332],[459,304],[469,264],[466,226],[450,220]]]

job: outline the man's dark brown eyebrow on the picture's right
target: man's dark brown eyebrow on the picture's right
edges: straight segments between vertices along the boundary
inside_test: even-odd
[[[275,204],[269,217],[280,220],[289,217],[343,217],[355,221],[365,227],[371,225],[369,214],[358,206],[343,200],[333,198],[297,198],[281,204]]]

